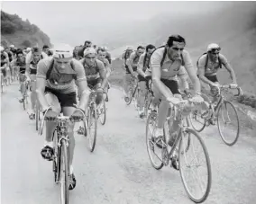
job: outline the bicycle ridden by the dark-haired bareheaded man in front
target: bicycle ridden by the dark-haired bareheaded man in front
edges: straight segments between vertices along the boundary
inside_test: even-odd
[[[179,102],[179,104],[186,104],[186,103],[192,103],[189,99],[188,100],[182,100]],[[178,105],[179,105],[178,104]],[[192,111],[192,107],[190,106],[189,111],[185,111],[185,108],[178,108],[177,105],[169,103],[171,114],[169,114],[168,119],[165,121],[164,125],[164,138],[163,139],[155,139],[153,137],[154,131],[156,129],[156,121],[157,121],[157,112],[151,111],[146,125],[146,144],[147,144],[147,151],[148,155],[151,160],[152,166],[160,170],[164,165],[167,166],[169,164],[169,160],[171,160],[171,163],[173,161],[178,162],[178,170],[180,173],[181,180],[183,182],[183,186],[185,190],[187,191],[187,195],[190,198],[190,200],[193,200],[194,202],[201,203],[205,201],[209,195],[210,189],[211,189],[211,183],[212,183],[212,172],[211,172],[211,164],[210,164],[210,158],[208,155],[208,151],[206,149],[206,145],[203,141],[203,139],[198,135],[197,131],[190,128],[190,120],[188,120],[188,114],[190,111]],[[195,107],[194,107],[195,108]],[[168,137],[169,137],[169,129],[170,129],[170,122],[171,119],[176,119],[180,121],[179,124],[179,131],[178,136],[175,138],[175,141],[173,145],[170,147],[167,144]],[[150,135],[151,134],[151,135]],[[193,144],[193,140],[197,139],[199,141],[199,146],[203,150],[203,155],[205,157],[206,161],[206,187],[203,187],[202,185],[198,184],[198,188],[201,188],[202,193],[199,195],[198,192],[193,192],[193,190],[196,190],[197,182],[192,183],[189,185],[188,180],[189,178],[186,177],[185,168],[192,169],[192,167],[199,167],[200,164],[198,163],[198,158],[196,158],[195,154],[193,159],[190,159],[191,162],[195,161],[196,164],[188,164],[189,158],[188,158],[188,151],[191,150],[192,153],[195,152],[195,146]],[[157,146],[157,143],[160,142],[161,147]],[[160,155],[156,154],[157,150],[160,150]],[[178,160],[177,156],[175,155],[175,152],[178,151]],[[194,152],[193,152],[194,151]],[[151,153],[152,152],[152,153]],[[191,153],[190,153],[191,155]],[[155,161],[155,158],[157,161]],[[184,158],[183,158],[184,157]],[[197,177],[196,173],[196,177]],[[195,176],[195,175],[194,175]],[[191,176],[190,176],[191,177]],[[198,194],[198,195],[195,195]]]

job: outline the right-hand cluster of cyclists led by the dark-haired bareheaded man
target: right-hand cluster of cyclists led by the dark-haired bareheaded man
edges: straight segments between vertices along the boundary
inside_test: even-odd
[[[198,58],[197,68],[193,66],[185,47],[186,40],[182,36],[171,35],[166,44],[160,48],[156,49],[154,45],[149,44],[146,48],[140,45],[133,50],[132,46],[127,46],[122,55],[124,101],[129,101],[128,92],[134,82],[132,78],[137,79],[135,83],[138,83],[140,89],[137,108],[140,118],[143,118],[145,116],[143,109],[147,108],[143,107],[145,93],[152,93],[152,110],[158,111],[157,129],[153,133],[153,139],[159,147],[161,147],[160,140],[164,137],[163,127],[169,114],[169,102],[178,104],[182,100],[181,90],[190,95],[193,102],[206,101],[215,104],[221,86],[217,79],[217,72],[222,67],[230,73],[232,87],[237,87],[233,68],[220,53],[219,45],[211,43],[207,46],[206,53]],[[193,92],[189,90],[188,78],[193,86]],[[201,93],[209,97],[202,97]],[[206,109],[204,112],[203,114],[207,113]],[[215,118],[211,123],[215,124]],[[173,120],[169,131],[169,146],[173,145],[178,136],[178,124],[178,120]],[[174,158],[172,165],[178,170],[178,160],[175,156]]]

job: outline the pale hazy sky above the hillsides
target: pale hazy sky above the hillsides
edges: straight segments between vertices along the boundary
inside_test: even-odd
[[[147,21],[160,13],[189,15],[207,13],[226,4],[224,2],[3,2],[2,10],[28,19],[45,32],[54,43],[66,40],[70,31],[86,30],[87,26],[105,28],[125,23]],[[84,31],[85,37],[93,38],[95,31]],[[104,33],[103,33],[104,34]],[[61,35],[65,36],[61,39]],[[65,42],[67,43],[67,42]]]

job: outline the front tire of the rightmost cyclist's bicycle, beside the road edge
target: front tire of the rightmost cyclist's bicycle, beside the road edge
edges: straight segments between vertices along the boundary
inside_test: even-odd
[[[233,141],[232,142],[228,142],[225,138],[224,138],[224,134],[222,133],[221,129],[220,129],[220,120],[219,120],[219,116],[220,116],[220,110],[222,108],[222,106],[226,106],[226,104],[230,104],[231,107],[233,108],[233,111],[234,111],[234,114],[235,114],[235,118],[237,120],[237,131],[236,131],[236,136],[234,137]],[[240,135],[240,120],[239,120],[239,117],[238,117],[238,114],[237,114],[237,111],[236,111],[236,108],[234,107],[233,103],[232,102],[229,102],[229,101],[224,101],[219,109],[218,109],[218,112],[217,112],[217,126],[218,126],[218,130],[219,130],[219,133],[220,133],[220,136],[222,137],[224,143],[227,145],[227,146],[233,146],[237,140],[238,140],[238,137]]]

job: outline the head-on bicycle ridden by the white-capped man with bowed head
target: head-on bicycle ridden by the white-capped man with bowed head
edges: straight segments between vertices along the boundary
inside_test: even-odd
[[[42,134],[45,114],[41,122],[39,135]],[[70,120],[68,116],[63,116],[61,112],[57,117],[57,127],[55,128],[53,141],[53,159],[52,171],[54,173],[54,182],[60,183],[60,203],[69,204],[69,132],[68,125]],[[55,121],[54,121],[55,122]]]

